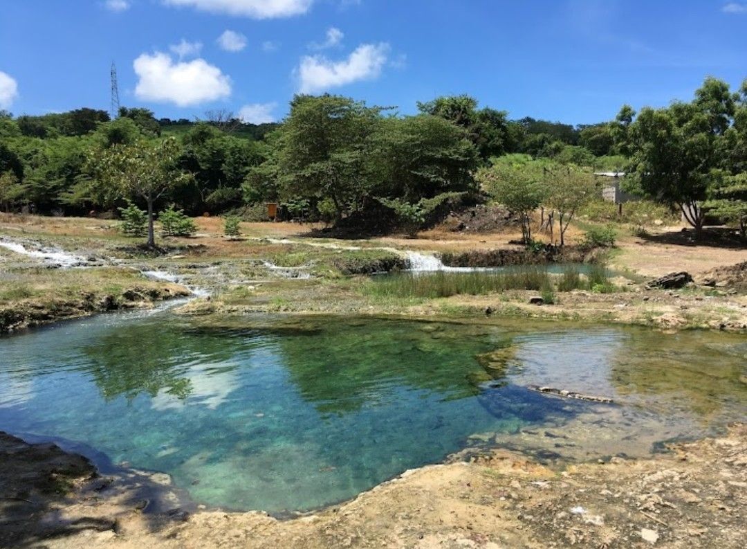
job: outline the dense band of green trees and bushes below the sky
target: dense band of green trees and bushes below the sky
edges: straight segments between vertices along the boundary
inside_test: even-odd
[[[747,82],[708,78],[691,102],[628,105],[589,125],[481,108],[471,96],[418,102],[418,114],[336,96],[295,96],[282,123],[232,114],[158,120],[146,108],[0,111],[0,208],[81,214],[134,200],[150,212],[258,212],[414,232],[459,201],[495,200],[530,242],[533,210],[568,223],[598,193],[594,171],[626,171],[626,188],[679,209],[700,230],[707,212],[746,232]],[[147,183],[146,183],[147,182]],[[155,185],[155,188],[147,188]],[[447,212],[446,212],[447,213]],[[151,230],[152,233],[152,230]]]

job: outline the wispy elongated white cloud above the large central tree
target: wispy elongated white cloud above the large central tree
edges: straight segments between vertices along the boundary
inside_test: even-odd
[[[362,44],[343,61],[329,61],[322,55],[306,55],[301,58],[297,69],[300,93],[314,93],[359,80],[376,79],[388,55],[388,43]]]

